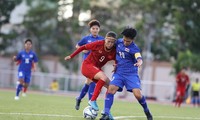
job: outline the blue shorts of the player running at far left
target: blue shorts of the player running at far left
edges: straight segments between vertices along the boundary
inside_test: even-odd
[[[31,73],[18,71],[18,79],[23,79],[25,83],[30,83]]]

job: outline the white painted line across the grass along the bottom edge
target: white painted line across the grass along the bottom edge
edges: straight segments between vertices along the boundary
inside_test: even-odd
[[[42,116],[42,117],[66,117],[66,118],[82,118],[83,116],[71,116],[71,115],[60,115],[60,114],[35,114],[35,113],[2,113],[0,115],[22,115],[22,116]],[[176,119],[176,120],[200,120],[200,118],[195,117],[178,117],[178,116],[153,116],[154,118],[163,119]],[[116,116],[116,120],[124,120],[128,118],[146,118],[146,116]]]

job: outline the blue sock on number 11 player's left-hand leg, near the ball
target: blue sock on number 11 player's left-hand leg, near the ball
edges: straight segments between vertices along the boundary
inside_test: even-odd
[[[113,104],[114,94],[108,93],[105,98],[104,112],[109,115],[111,106]]]

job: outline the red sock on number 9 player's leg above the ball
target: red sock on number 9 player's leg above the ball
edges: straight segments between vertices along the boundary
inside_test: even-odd
[[[92,95],[91,101],[95,101],[97,99],[97,97],[99,96],[100,92],[101,92],[101,88],[104,86],[105,81],[103,80],[98,80],[98,82],[96,83],[96,87],[94,89],[94,93]]]

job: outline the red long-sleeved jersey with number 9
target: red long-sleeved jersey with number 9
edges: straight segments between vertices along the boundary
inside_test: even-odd
[[[116,48],[114,47],[110,51],[106,51],[104,49],[105,40],[95,41],[78,48],[73,54],[71,54],[71,58],[80,53],[83,50],[90,50],[90,54],[84,60],[85,63],[93,64],[98,68],[102,68],[108,61],[115,60],[116,56]]]

